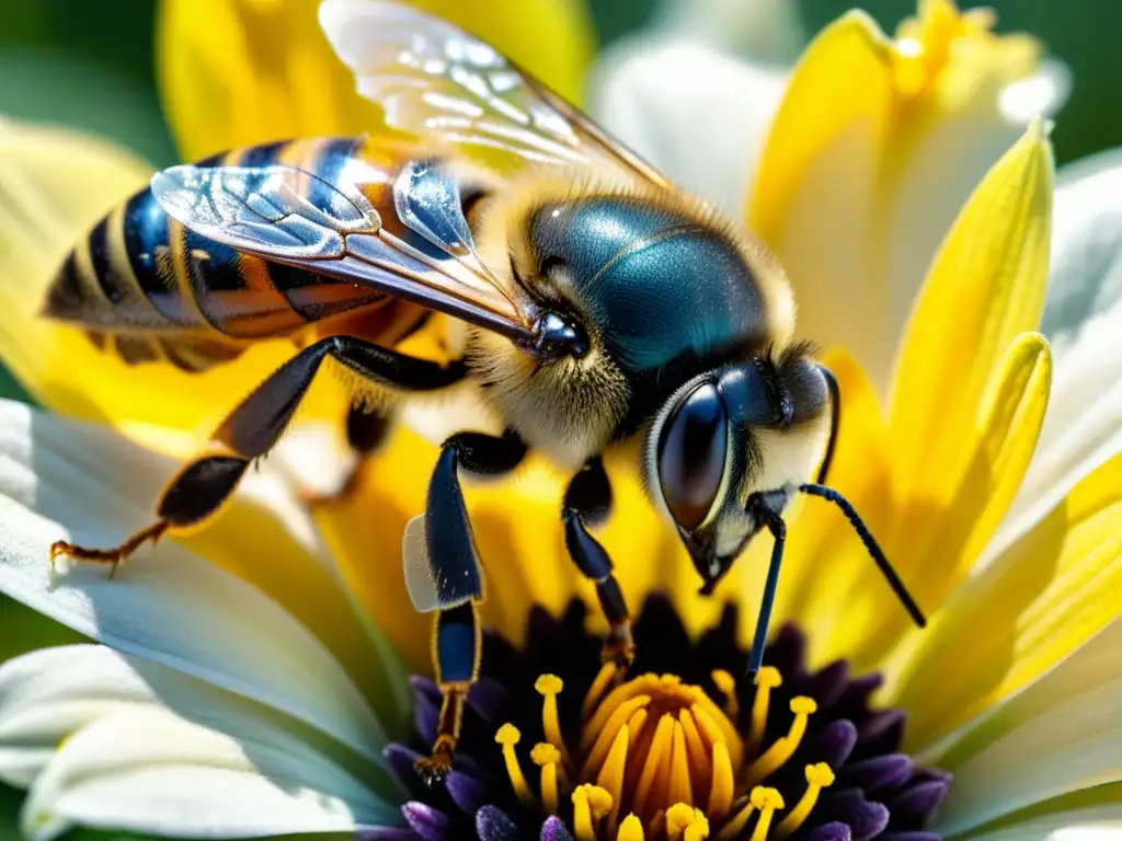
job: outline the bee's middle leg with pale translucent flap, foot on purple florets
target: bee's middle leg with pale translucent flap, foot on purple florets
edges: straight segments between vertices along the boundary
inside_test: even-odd
[[[422,573],[435,588],[432,595],[440,608],[432,656],[442,702],[432,754],[419,759],[416,768],[430,785],[452,767],[465,700],[479,674],[477,604],[484,597],[484,576],[459,471],[462,468],[478,475],[502,475],[514,470],[525,454],[525,443],[513,432],[502,437],[459,433],[444,442],[429,480]]]

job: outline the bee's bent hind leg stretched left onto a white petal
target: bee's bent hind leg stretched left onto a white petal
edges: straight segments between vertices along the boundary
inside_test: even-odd
[[[213,517],[233,493],[250,462],[279,440],[328,357],[360,377],[406,391],[447,388],[466,372],[462,362],[443,367],[351,336],[329,336],[310,344],[274,371],[222,422],[213,438],[226,453],[201,456],[176,474],[160,497],[157,523],[111,549],[86,549],[58,542],[50,547],[52,565],[58,557],[71,557],[111,564],[116,572],[145,542],[158,539],[168,529],[200,526]]]

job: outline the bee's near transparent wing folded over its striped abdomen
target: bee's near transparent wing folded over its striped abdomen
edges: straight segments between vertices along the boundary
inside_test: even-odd
[[[401,222],[439,250],[387,231],[357,186],[288,166],[176,166],[157,173],[151,191],[172,218],[238,251],[527,340],[528,316],[476,257],[454,185],[423,161],[406,165],[397,181]]]

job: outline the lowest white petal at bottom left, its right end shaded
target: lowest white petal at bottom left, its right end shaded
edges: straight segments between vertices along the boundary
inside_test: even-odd
[[[38,841],[73,824],[245,838],[399,820],[361,782],[284,731],[230,736],[139,708],[67,739],[31,787],[21,824]]]

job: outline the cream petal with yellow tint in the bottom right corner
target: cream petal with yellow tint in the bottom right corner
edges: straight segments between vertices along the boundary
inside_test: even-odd
[[[1122,780],[1120,651],[1122,619],[944,746],[935,761],[955,786],[935,831],[959,834]]]

